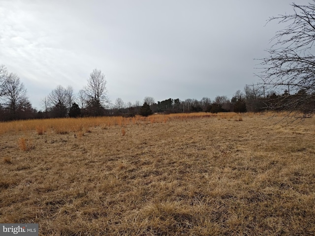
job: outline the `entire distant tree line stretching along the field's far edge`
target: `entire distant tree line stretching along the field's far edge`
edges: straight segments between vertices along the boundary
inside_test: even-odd
[[[188,112],[260,112],[271,109],[274,104],[293,103],[306,91],[290,95],[272,92],[265,96],[263,87],[246,85],[244,91],[237,90],[233,97],[217,96],[214,100],[203,97],[197,99],[169,98],[155,102],[147,96],[143,102],[125,103],[117,98],[114,103],[108,99],[105,75],[94,69],[87,80],[87,85],[74,92],[72,86],[58,85],[41,100],[42,110],[32,108],[27,90],[18,75],[9,73],[4,65],[0,66],[0,120],[17,120],[31,118],[65,118],[95,116],[125,116],[136,114],[148,116],[153,113],[188,113]],[[310,99],[312,101],[312,99]],[[306,110],[312,104],[305,103]]]

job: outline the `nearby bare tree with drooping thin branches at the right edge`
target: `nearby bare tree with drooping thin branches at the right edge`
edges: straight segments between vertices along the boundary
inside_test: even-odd
[[[309,5],[292,3],[293,13],[271,17],[268,22],[285,24],[271,39],[269,56],[262,59],[257,74],[268,90],[284,90],[286,96],[275,99],[270,106],[277,110],[304,112],[303,117],[315,113],[315,0]],[[290,94],[299,96],[287,98]]]

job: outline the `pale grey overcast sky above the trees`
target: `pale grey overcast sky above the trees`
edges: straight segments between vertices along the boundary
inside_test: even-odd
[[[307,4],[308,0],[295,0]],[[257,60],[292,0],[0,0],[0,64],[31,103],[78,92],[94,68],[111,101],[231,98],[257,83]]]

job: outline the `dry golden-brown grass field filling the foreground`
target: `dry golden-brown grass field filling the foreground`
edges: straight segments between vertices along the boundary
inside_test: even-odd
[[[315,118],[0,123],[0,222],[49,236],[315,234]]]

